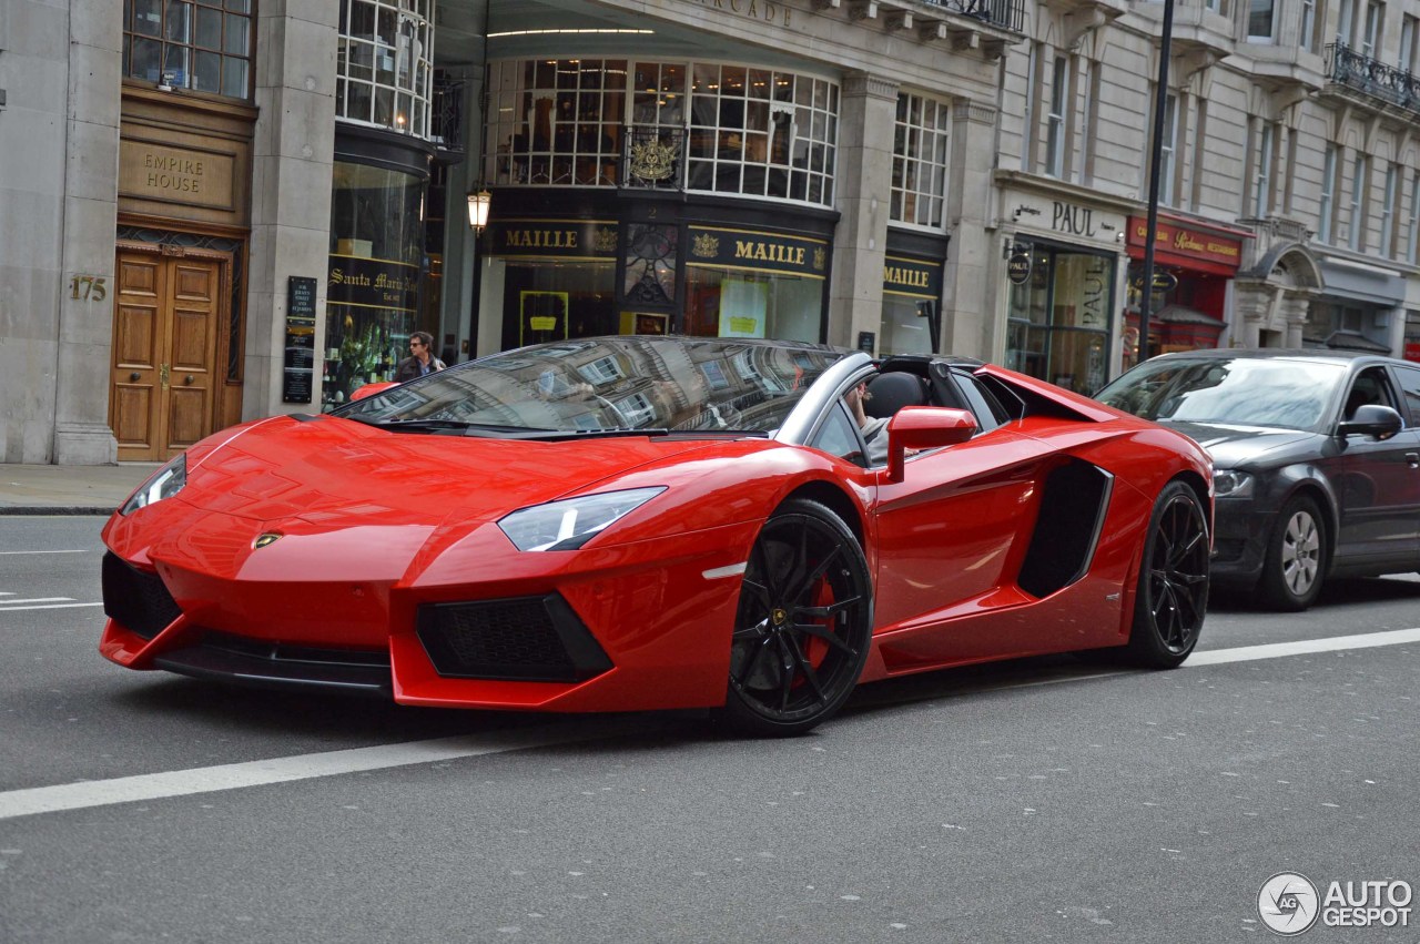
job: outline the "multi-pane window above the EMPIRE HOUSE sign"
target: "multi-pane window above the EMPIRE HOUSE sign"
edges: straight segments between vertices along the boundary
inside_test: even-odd
[[[125,0],[124,75],[251,97],[251,0]]]

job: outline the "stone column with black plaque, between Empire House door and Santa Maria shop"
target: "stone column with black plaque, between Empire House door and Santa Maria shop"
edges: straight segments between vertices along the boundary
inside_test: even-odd
[[[339,3],[287,0],[257,7],[243,419],[318,410],[283,403],[285,294],[291,275],[317,280],[315,344],[325,338],[331,173],[335,153],[335,40]],[[320,400],[321,351],[315,352]]]

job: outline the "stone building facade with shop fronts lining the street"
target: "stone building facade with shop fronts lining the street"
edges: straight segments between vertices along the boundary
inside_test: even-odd
[[[1420,7],[1173,14],[1142,325],[1162,3],[10,0],[0,461],[329,409],[415,329],[1420,358]]]

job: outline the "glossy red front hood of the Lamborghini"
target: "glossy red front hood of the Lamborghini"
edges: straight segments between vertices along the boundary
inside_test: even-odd
[[[327,528],[477,525],[704,446],[643,436],[498,440],[278,417],[196,459],[179,497],[204,511]]]

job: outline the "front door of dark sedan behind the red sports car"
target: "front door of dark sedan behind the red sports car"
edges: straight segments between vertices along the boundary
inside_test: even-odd
[[[1366,366],[1352,378],[1338,423],[1358,406],[1380,403],[1407,416],[1392,375],[1383,365]],[[1406,429],[1389,439],[1342,436],[1331,460],[1336,491],[1336,552],[1340,569],[1375,569],[1386,562],[1409,564],[1420,547],[1420,430]]]

